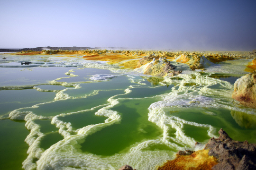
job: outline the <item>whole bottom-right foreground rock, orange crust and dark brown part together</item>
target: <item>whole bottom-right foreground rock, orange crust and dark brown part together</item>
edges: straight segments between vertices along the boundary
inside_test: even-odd
[[[221,128],[203,150],[179,151],[158,170],[256,170],[256,144],[234,141]]]

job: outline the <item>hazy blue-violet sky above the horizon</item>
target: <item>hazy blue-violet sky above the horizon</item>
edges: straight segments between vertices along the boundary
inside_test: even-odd
[[[252,51],[256,0],[0,0],[0,48]]]

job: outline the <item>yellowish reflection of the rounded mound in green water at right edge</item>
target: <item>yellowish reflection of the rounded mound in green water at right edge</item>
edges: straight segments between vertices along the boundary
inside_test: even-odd
[[[232,117],[236,120],[240,127],[245,128],[255,128],[256,127],[256,116],[239,112],[239,111],[231,111]]]

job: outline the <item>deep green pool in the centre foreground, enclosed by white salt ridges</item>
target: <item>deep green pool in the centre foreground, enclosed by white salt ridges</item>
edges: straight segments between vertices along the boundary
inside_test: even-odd
[[[150,102],[155,100],[123,100],[122,104],[113,107],[111,110],[120,113],[121,122],[88,136],[81,144],[82,152],[113,155],[136,142],[161,136],[162,130],[147,121],[146,114]]]

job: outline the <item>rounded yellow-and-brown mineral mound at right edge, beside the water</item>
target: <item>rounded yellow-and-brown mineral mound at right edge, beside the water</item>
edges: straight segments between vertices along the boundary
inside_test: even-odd
[[[256,108],[256,74],[238,78],[234,84],[232,98],[247,107]]]

